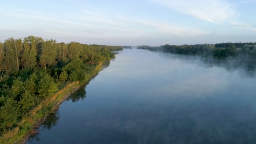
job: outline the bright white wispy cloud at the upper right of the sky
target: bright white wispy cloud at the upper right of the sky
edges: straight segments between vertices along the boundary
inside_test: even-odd
[[[222,0],[153,0],[195,18],[225,24],[236,16],[236,5]]]

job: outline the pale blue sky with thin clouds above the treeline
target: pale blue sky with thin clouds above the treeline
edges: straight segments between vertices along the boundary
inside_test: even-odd
[[[0,42],[112,46],[256,42],[256,0],[2,0]]]

